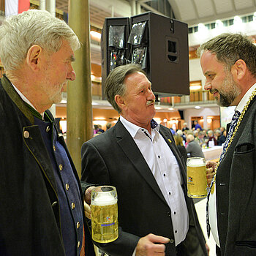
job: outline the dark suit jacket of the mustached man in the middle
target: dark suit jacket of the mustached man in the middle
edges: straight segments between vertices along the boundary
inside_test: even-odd
[[[161,126],[160,133],[178,160],[184,182],[190,224],[184,245],[192,252],[184,256],[206,255],[195,206],[187,197],[183,159],[170,129]],[[154,233],[170,238],[166,255],[176,255],[170,208],[138,146],[121,121],[104,134],[84,143],[82,157],[82,181],[112,185],[118,192],[119,237],[112,243],[97,246],[111,256],[131,256],[138,240]]]

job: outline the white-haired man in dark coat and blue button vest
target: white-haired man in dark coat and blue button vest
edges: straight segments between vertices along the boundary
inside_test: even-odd
[[[75,80],[79,47],[46,11],[0,26],[0,255],[94,255],[78,173],[48,110]]]

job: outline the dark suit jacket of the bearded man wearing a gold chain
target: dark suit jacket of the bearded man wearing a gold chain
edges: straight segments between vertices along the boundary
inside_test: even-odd
[[[224,256],[256,255],[255,131],[253,99],[217,170],[217,223]]]

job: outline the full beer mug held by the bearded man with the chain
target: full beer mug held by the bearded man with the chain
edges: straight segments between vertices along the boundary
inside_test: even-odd
[[[187,195],[189,197],[206,197],[206,159],[190,157],[187,159]]]

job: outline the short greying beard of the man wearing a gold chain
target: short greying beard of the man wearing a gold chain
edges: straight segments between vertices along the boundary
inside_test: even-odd
[[[241,89],[233,80],[233,76],[227,73],[226,78],[222,83],[222,88],[219,90],[210,90],[211,94],[214,94],[215,92],[219,92],[219,99],[215,97],[217,99],[217,104],[221,107],[229,107],[236,97],[241,94]]]

